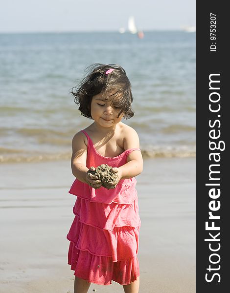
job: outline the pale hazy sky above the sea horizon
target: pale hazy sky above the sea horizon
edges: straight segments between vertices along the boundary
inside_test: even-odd
[[[0,0],[0,32],[118,31],[195,26],[195,0]]]

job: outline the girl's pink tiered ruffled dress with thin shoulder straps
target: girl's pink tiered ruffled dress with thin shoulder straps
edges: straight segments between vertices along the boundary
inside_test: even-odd
[[[87,136],[87,167],[108,164],[120,167],[134,150],[125,150],[114,158],[99,154]],[[90,187],[75,180],[69,193],[77,196],[75,218],[67,239],[70,241],[68,263],[74,275],[99,285],[112,280],[126,285],[139,276],[138,234],[140,218],[136,179],[120,180],[114,189]]]

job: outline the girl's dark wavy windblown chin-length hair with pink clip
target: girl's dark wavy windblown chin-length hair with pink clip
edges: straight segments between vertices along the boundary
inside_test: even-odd
[[[114,69],[105,74],[107,70]],[[81,115],[92,118],[92,97],[102,93],[105,101],[112,101],[113,105],[120,111],[118,117],[123,114],[125,119],[134,116],[132,110],[133,94],[131,84],[125,70],[116,64],[95,63],[86,68],[88,74],[75,87],[71,89],[74,102],[79,105]]]

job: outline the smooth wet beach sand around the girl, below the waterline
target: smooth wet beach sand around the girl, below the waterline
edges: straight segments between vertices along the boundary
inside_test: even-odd
[[[70,163],[2,164],[0,178],[0,293],[72,293]],[[139,293],[195,293],[195,159],[146,159],[137,180]]]

